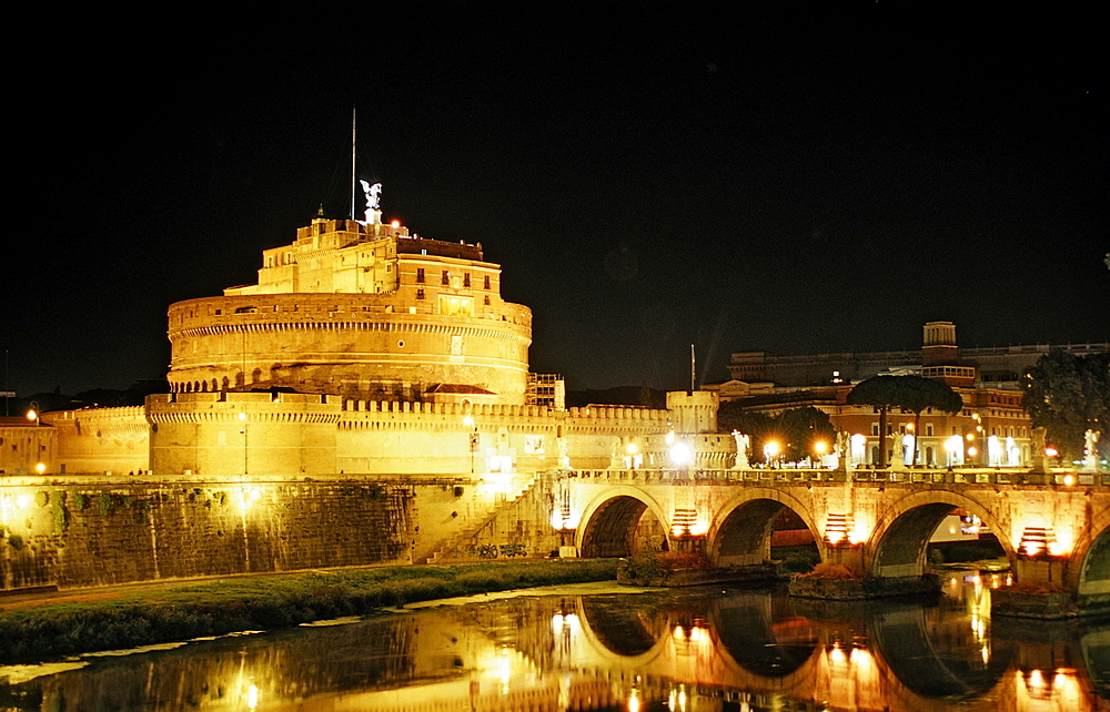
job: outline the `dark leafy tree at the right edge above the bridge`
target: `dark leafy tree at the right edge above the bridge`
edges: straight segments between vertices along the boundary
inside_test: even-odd
[[[1106,435],[1110,421],[1110,354],[1076,356],[1053,348],[1023,378],[1021,405],[1035,428],[1043,427],[1064,459],[1083,451],[1088,429]],[[1100,447],[1107,449],[1107,438]]]

